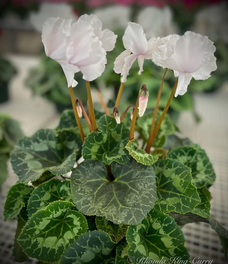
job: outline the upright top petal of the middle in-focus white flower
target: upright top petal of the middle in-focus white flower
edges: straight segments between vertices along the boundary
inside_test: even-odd
[[[123,35],[123,45],[135,55],[146,53],[147,40],[143,27],[139,24],[129,22]]]

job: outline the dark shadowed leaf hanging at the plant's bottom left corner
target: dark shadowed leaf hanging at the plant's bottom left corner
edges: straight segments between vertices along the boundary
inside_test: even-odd
[[[15,261],[17,262],[24,262],[28,260],[27,255],[22,251],[21,246],[17,242],[17,238],[21,234],[23,227],[25,226],[26,222],[18,215],[17,217],[17,229],[15,233],[15,239],[13,244],[13,256],[15,257]]]

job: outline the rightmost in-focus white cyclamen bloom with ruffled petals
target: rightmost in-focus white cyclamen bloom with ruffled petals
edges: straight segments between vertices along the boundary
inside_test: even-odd
[[[207,36],[187,31],[183,36],[169,35],[158,42],[160,45],[153,53],[152,61],[173,70],[178,76],[175,97],[186,93],[192,77],[205,80],[217,69],[215,46]]]

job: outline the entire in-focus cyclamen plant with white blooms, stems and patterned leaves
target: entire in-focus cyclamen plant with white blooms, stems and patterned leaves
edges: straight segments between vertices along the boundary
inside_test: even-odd
[[[4,216],[18,220],[16,261],[168,263],[178,257],[188,263],[180,227],[198,221],[219,234],[227,255],[228,231],[210,215],[213,167],[199,145],[175,134],[166,115],[174,94],[184,94],[192,77],[204,80],[216,70],[213,42],[190,31],[147,41],[143,28],[129,22],[123,36],[126,50],[114,66],[122,76],[119,94],[114,109],[98,94],[103,113],[93,108],[89,81],[104,71],[106,52],[113,50],[116,38],[102,30],[95,15],[83,15],[74,24],[49,18],[43,25],[46,55],[64,70],[73,110],[62,113],[56,129],[21,139],[11,153],[19,180],[8,192]],[[139,74],[144,59],[165,68],[157,102],[144,113],[149,93],[142,84],[136,103],[121,114],[121,94],[136,59]],[[178,78],[160,112],[167,69]],[[78,71],[86,80],[88,113],[72,92]]]

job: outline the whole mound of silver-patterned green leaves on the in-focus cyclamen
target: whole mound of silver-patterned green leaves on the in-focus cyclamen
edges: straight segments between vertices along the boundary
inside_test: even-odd
[[[208,187],[215,173],[205,151],[174,135],[168,116],[150,154],[139,140],[128,142],[128,125],[96,116],[101,116],[98,130],[86,133],[84,144],[68,110],[55,130],[41,129],[13,149],[19,181],[8,192],[4,216],[18,219],[15,260],[122,264],[142,256],[178,256],[189,261],[179,226],[194,221],[209,223],[227,254],[228,231],[210,216]],[[150,112],[137,121],[142,141],[151,117]]]

